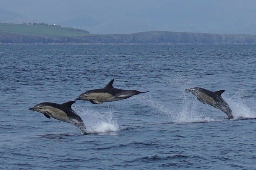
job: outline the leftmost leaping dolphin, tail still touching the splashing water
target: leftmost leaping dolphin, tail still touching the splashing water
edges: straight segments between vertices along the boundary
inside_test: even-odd
[[[41,112],[45,117],[51,119],[61,120],[63,122],[71,123],[78,127],[85,134],[85,125],[79,115],[71,109],[71,105],[75,101],[68,101],[66,103],[39,103],[34,107],[29,108],[30,111]]]

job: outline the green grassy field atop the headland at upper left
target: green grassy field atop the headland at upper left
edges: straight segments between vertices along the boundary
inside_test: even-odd
[[[89,32],[82,29],[74,29],[61,26],[44,26],[28,24],[0,23],[0,32],[9,32],[23,35],[39,35],[42,37],[77,37],[88,35]]]

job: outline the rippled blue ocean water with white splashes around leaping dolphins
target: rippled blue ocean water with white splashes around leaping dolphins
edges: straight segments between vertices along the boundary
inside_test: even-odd
[[[0,45],[0,169],[256,169],[256,45]],[[150,91],[72,108],[89,135],[29,111],[114,87]],[[226,90],[234,119],[186,88]]]

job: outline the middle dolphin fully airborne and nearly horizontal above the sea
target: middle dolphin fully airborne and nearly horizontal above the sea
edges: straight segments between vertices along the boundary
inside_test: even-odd
[[[75,100],[90,101],[92,104],[101,104],[104,102],[117,101],[127,99],[140,93],[147,93],[148,91],[137,90],[122,90],[113,87],[114,79],[111,80],[104,88],[94,89],[82,93]]]

